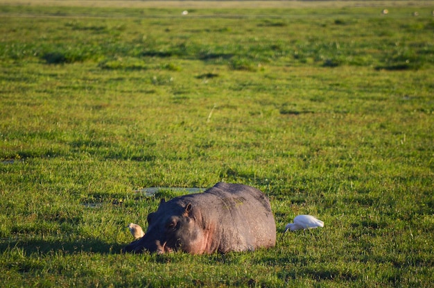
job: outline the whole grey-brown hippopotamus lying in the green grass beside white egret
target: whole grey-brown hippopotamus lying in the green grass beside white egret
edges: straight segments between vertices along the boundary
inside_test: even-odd
[[[217,183],[198,194],[162,201],[148,214],[144,237],[124,252],[193,255],[254,251],[276,244],[276,223],[270,201],[259,189]]]

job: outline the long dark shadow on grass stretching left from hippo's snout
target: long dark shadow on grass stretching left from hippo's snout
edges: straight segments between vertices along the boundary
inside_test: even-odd
[[[60,241],[43,239],[16,239],[0,243],[0,253],[12,249],[21,248],[26,255],[32,253],[51,253],[62,251],[63,253],[73,254],[78,252],[92,252],[101,254],[120,254],[124,245],[102,242],[98,239],[83,239],[78,241]]]

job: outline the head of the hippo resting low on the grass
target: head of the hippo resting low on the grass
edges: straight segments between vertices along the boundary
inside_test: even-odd
[[[162,199],[158,210],[148,214],[148,230],[144,237],[125,247],[125,251],[202,253],[204,235],[201,222],[200,211],[191,203],[176,198],[168,202]]]

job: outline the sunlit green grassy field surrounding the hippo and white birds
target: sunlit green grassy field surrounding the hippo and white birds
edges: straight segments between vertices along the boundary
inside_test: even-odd
[[[0,5],[1,287],[432,287],[432,2],[47,2]],[[268,194],[275,248],[120,253],[182,194],[137,190],[219,181]]]

